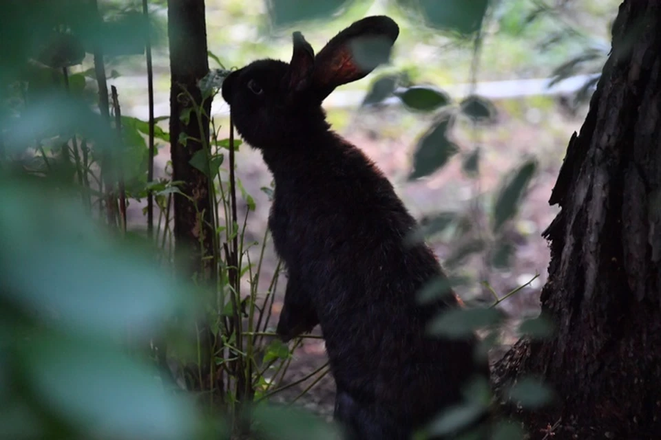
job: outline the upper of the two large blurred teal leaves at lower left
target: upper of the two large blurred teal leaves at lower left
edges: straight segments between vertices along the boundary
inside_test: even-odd
[[[185,307],[149,247],[103,234],[76,197],[42,181],[0,184],[0,292],[43,322],[88,336],[136,338]],[[45,213],[48,213],[46,215]]]

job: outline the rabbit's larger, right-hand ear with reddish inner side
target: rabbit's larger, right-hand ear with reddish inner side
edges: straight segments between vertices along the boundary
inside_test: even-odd
[[[397,36],[399,26],[385,16],[367,17],[339,32],[315,59],[317,97],[323,100],[335,87],[359,80],[387,63]]]

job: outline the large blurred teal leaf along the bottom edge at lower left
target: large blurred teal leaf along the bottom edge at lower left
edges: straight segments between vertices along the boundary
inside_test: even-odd
[[[39,332],[21,352],[39,401],[92,437],[183,440],[194,432],[193,406],[118,348]]]

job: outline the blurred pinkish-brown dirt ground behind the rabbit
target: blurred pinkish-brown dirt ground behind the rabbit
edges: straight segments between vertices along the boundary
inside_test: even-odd
[[[486,275],[490,285],[496,292],[503,295],[511,289],[527,283],[535,274],[539,274],[534,283],[499,306],[513,320],[516,320],[522,316],[538,313],[538,296],[546,281],[549,261],[547,242],[541,237],[541,232],[558,212],[557,207],[548,205],[548,199],[562,164],[569,137],[573,131],[580,129],[583,115],[567,115],[556,103],[540,109],[534,102],[519,102],[516,111],[508,110],[508,108],[499,105],[497,124],[485,129],[479,139],[480,144],[483,145],[481,177],[479,178],[481,190],[487,193],[494,190],[503,175],[507,174],[512,167],[520,164],[521,160],[528,155],[535,155],[540,166],[532,187],[521,206],[517,220],[512,226],[516,243],[516,257],[512,267],[507,271],[492,271],[482,275]],[[349,120],[350,123],[338,131],[365,151],[384,170],[415,217],[420,219],[433,212],[448,210],[448,207],[466,209],[470,196],[474,194],[476,183],[461,173],[461,159],[459,158],[453,159],[448,166],[429,179],[406,181],[406,174],[410,170],[411,153],[415,140],[421,133],[421,126],[392,129],[392,126],[397,127],[398,124],[402,124],[401,109],[379,113],[357,110],[350,114]],[[391,128],[387,135],[384,135],[384,126]],[[457,143],[468,150],[471,136],[470,131],[460,132],[457,135]],[[169,159],[169,150],[162,148],[157,158],[161,169],[167,159]],[[253,195],[257,205],[255,212],[251,213],[249,217],[246,240],[261,241],[266,228],[269,201],[260,188],[269,186],[271,174],[264,165],[260,153],[251,148],[240,148],[237,164],[237,175],[247,192]],[[244,209],[244,206],[240,208]],[[142,217],[139,212],[140,206],[134,204],[132,210],[134,211],[132,217],[139,221],[139,217]],[[441,261],[450,252],[449,243],[433,241],[430,244]],[[271,279],[276,263],[275,254],[269,248],[262,265],[263,273],[260,278],[264,283],[264,288]],[[471,261],[470,264],[472,263],[474,261]],[[282,277],[273,305],[273,319],[271,320],[273,327],[277,323],[277,315],[282,307],[285,284],[286,279]],[[461,295],[462,292],[459,294]],[[319,334],[318,328],[315,329],[315,334]],[[493,358],[502,355],[507,347],[515,341],[516,334],[513,331],[505,332],[501,341],[503,345],[497,353],[493,353]],[[295,351],[291,366],[284,377],[284,384],[300,380],[318,369],[324,362],[326,362],[326,353],[323,340],[306,340],[302,347]],[[302,393],[316,377],[291,386],[275,395],[273,399],[281,402],[291,401]],[[334,397],[333,379],[330,375],[326,375],[308,393],[300,397],[296,405],[313,410],[330,419]]]

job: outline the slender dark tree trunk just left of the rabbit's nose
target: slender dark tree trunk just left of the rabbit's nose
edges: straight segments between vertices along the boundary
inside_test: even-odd
[[[182,192],[174,195],[175,265],[183,276],[194,278],[199,285],[216,287],[216,252],[213,248],[213,204],[209,197],[209,179],[191,166],[193,155],[209,146],[211,100],[202,103],[198,81],[209,73],[207,27],[204,0],[168,0],[168,36],[170,52],[170,140],[172,178],[183,182]],[[200,104],[201,123],[196,115]],[[188,115],[188,118],[182,118]],[[183,119],[183,120],[182,120]],[[204,256],[213,258],[202,259]],[[211,369],[213,333],[207,318],[196,325],[200,347],[200,365],[193,368],[196,389],[205,389]],[[167,347],[160,341],[160,352]],[[198,373],[202,374],[199,375]]]

